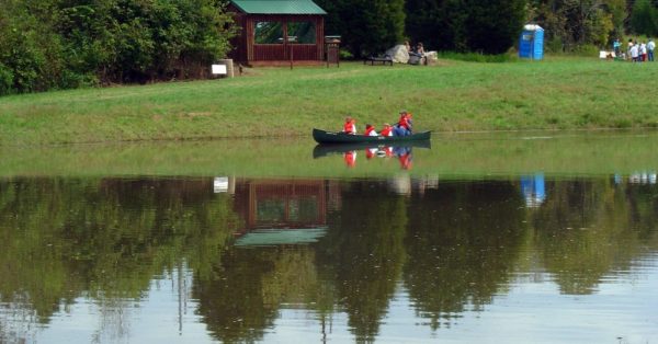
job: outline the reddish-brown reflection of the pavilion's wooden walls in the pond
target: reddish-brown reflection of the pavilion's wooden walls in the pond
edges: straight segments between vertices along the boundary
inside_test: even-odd
[[[327,186],[322,180],[237,181],[235,206],[246,225],[238,234],[254,229],[324,227]]]

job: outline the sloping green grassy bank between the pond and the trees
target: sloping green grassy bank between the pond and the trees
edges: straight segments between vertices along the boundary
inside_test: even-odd
[[[435,67],[272,68],[235,79],[0,98],[0,145],[308,136],[413,113],[417,128],[658,126],[658,64],[548,58]]]

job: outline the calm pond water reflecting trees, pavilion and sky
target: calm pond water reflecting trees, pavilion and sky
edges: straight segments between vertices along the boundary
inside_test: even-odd
[[[656,145],[5,149],[0,343],[658,343]]]

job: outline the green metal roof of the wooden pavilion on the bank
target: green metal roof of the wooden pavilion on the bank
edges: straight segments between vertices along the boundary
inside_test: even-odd
[[[311,0],[231,0],[248,14],[327,14]]]

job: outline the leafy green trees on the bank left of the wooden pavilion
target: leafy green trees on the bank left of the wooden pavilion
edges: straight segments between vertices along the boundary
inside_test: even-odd
[[[0,95],[204,77],[236,28],[222,0],[0,0]]]

